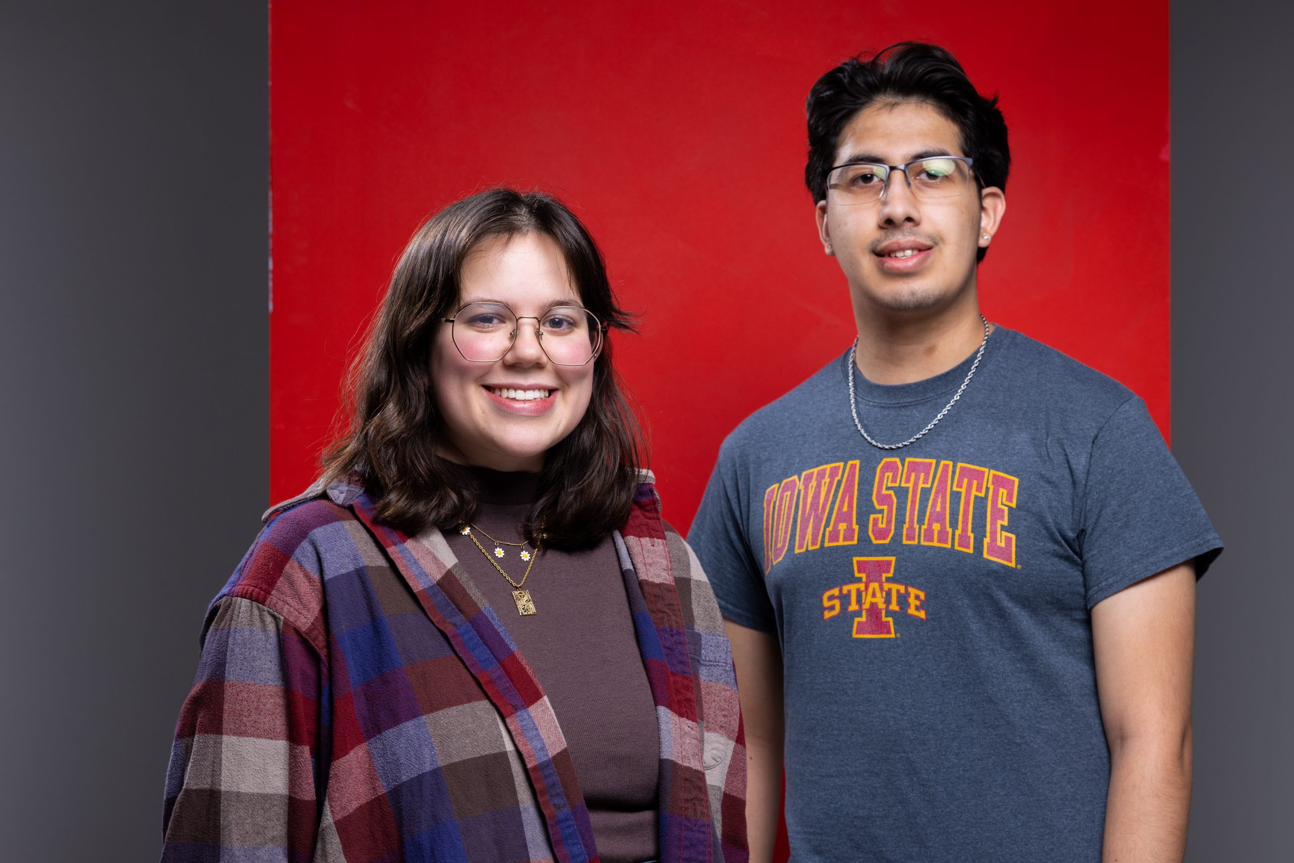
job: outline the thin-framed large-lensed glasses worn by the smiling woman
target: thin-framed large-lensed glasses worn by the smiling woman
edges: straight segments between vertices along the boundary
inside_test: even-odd
[[[502,303],[467,303],[449,323],[463,360],[497,362],[512,349],[521,321],[534,321],[534,335],[547,358],[559,366],[582,366],[598,356],[607,325],[580,305],[554,305],[538,317],[519,316]]]

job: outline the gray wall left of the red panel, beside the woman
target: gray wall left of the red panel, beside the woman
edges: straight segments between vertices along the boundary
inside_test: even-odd
[[[0,3],[0,859],[157,859],[268,496],[263,3]]]

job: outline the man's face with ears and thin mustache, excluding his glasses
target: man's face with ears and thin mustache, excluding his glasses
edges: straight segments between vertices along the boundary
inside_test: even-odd
[[[965,155],[958,127],[923,102],[876,104],[841,131],[833,164],[906,164],[929,155]],[[952,198],[919,198],[902,171],[880,199],[818,204],[818,232],[849,279],[854,308],[892,312],[946,308],[974,285],[976,255],[1005,210],[996,188]],[[987,234],[987,239],[985,238]]]

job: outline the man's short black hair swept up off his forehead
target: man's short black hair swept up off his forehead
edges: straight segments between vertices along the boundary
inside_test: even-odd
[[[814,203],[827,197],[827,172],[835,164],[840,132],[873,102],[924,102],[949,118],[961,133],[961,151],[974,160],[976,186],[1007,190],[1011,146],[998,97],[985,98],[961,63],[938,45],[901,41],[871,56],[850,57],[809,91],[809,162],[805,185]],[[983,260],[985,248],[978,259]]]

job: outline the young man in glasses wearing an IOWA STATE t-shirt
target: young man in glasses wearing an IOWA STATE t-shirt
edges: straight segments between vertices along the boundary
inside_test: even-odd
[[[732,432],[690,538],[752,860],[1180,862],[1222,545],[1131,391],[985,321],[1007,127],[943,49],[823,75],[805,180],[855,347]]]

